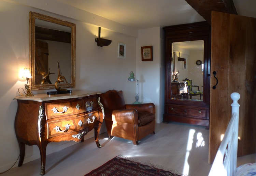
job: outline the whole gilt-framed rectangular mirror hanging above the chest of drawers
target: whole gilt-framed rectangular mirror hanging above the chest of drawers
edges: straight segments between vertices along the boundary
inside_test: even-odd
[[[29,24],[31,90],[55,88],[58,62],[62,76],[75,87],[75,24],[35,12]]]

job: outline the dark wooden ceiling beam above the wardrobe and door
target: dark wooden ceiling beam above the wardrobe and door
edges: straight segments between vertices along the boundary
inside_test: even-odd
[[[237,10],[233,0],[185,0],[210,25],[212,11],[236,14]]]

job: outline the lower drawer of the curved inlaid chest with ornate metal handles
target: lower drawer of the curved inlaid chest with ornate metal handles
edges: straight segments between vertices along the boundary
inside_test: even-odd
[[[83,130],[99,120],[98,111],[73,118],[47,122],[48,138]]]

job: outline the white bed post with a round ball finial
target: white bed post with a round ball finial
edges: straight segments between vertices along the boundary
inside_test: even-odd
[[[235,135],[235,140],[234,140],[234,143],[233,143],[233,147],[232,147],[232,155],[233,157],[233,160],[231,162],[231,165],[232,165],[232,173],[236,173],[236,170],[237,170],[237,146],[238,146],[238,122],[239,122],[239,107],[240,105],[238,104],[238,100],[240,99],[240,94],[237,93],[237,92],[233,92],[231,95],[230,95],[231,99],[233,100],[233,103],[231,104],[231,107],[232,107],[232,114],[233,113],[236,113],[237,114],[237,117],[236,117],[236,120],[235,120],[235,123],[234,123],[234,129],[235,129],[235,132],[236,132],[236,135]]]

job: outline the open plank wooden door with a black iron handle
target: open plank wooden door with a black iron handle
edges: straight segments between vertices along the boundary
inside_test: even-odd
[[[238,156],[256,153],[256,18],[212,12],[211,38],[209,163],[231,118],[232,92],[241,95]]]

